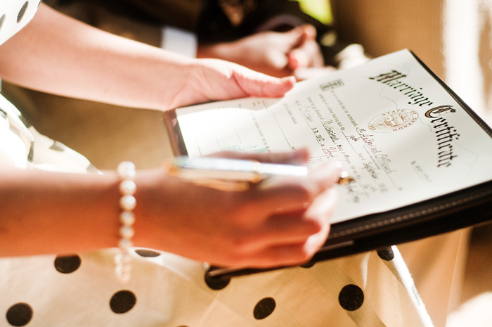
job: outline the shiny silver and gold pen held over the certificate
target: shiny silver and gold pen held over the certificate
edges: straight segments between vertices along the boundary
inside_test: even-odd
[[[169,174],[204,186],[242,190],[274,176],[306,176],[308,168],[301,165],[259,162],[213,157],[178,157],[169,167]],[[338,184],[354,181],[345,171]]]

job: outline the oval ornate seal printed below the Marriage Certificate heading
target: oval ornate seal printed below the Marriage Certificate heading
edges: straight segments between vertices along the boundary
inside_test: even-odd
[[[373,118],[368,127],[373,132],[396,132],[407,128],[418,119],[418,113],[410,109],[391,110]]]

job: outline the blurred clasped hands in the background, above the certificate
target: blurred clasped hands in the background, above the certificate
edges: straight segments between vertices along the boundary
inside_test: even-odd
[[[260,32],[230,43],[200,45],[198,56],[228,60],[276,77],[294,75],[297,68],[323,66],[312,25],[287,32]]]

